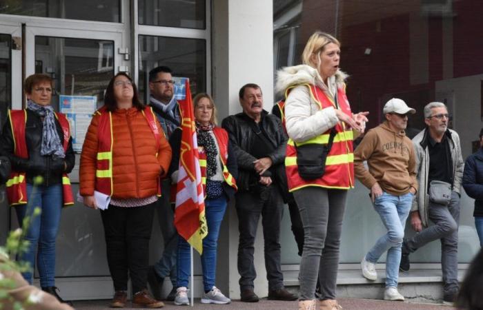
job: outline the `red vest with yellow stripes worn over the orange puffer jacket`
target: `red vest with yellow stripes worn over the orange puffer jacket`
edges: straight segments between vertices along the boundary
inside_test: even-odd
[[[152,133],[155,135],[156,149],[159,149],[161,138],[159,128],[156,125],[156,116],[152,112],[152,107],[145,107],[142,111]],[[114,138],[112,136],[112,113],[106,107],[101,107],[94,115],[99,115],[99,123],[97,127],[97,162],[96,162],[96,183],[95,189],[108,196],[112,196],[112,145]],[[157,153],[156,153],[157,156]],[[161,196],[161,183],[158,178],[157,196]]]

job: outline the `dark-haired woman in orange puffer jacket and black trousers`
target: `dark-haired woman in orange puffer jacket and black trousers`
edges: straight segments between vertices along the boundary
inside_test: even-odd
[[[146,282],[159,177],[166,175],[170,161],[171,148],[155,114],[139,102],[130,76],[119,72],[109,82],[104,106],[92,117],[80,166],[84,205],[100,207],[95,192],[111,198],[101,210],[115,289],[110,307],[126,304],[128,273],[134,307],[164,306],[149,295]]]

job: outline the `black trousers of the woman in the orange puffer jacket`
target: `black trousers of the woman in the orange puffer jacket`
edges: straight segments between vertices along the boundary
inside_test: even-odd
[[[141,207],[109,205],[107,210],[101,210],[108,266],[115,291],[127,291],[128,276],[133,293],[146,289],[155,204]]]

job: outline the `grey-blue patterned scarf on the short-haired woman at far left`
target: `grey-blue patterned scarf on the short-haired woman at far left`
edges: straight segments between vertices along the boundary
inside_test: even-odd
[[[44,156],[53,155],[60,158],[65,158],[66,153],[63,152],[59,134],[57,133],[54,108],[52,105],[38,105],[37,103],[29,100],[27,102],[27,109],[43,117],[42,145],[40,147],[40,154]]]

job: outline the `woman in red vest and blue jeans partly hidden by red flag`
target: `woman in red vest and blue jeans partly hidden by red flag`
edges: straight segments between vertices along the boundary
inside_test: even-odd
[[[235,178],[238,167],[235,155],[228,142],[228,133],[216,126],[216,107],[208,94],[197,94],[193,99],[195,122],[197,127],[197,141],[199,149],[199,166],[205,196],[205,214],[208,235],[203,239],[203,267],[204,294],[201,303],[228,304],[226,298],[215,287],[215,271],[217,266],[217,244],[219,227],[226,211],[228,199],[237,190]],[[181,146],[181,128],[177,128],[170,137],[172,147],[172,162],[170,167],[171,179],[177,180],[179,167],[179,147]],[[176,305],[189,304],[187,287],[190,276],[190,245],[183,238],[178,240],[177,254],[177,292]]]

